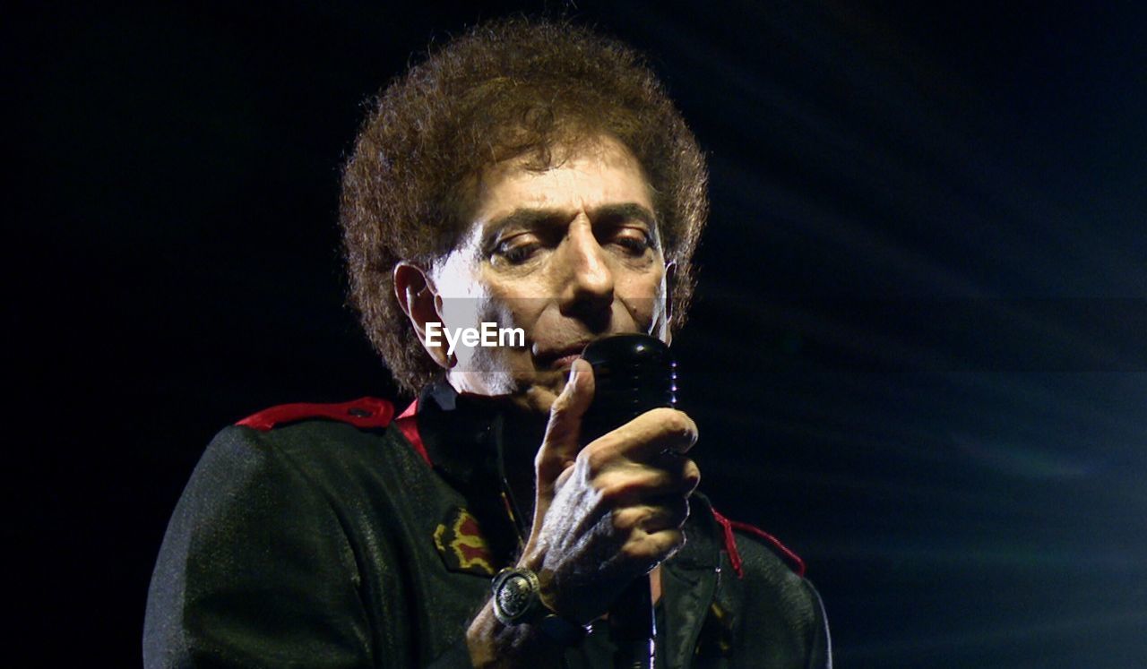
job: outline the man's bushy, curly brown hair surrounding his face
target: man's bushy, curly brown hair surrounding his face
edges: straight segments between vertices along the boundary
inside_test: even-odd
[[[649,179],[666,261],[676,265],[671,329],[685,320],[689,263],[708,214],[696,139],[632,48],[562,21],[501,19],[431,50],[392,81],[364,123],[343,173],[340,222],[350,301],[407,391],[440,369],[393,290],[398,261],[445,257],[466,231],[467,180],[601,134],[621,141]]]

